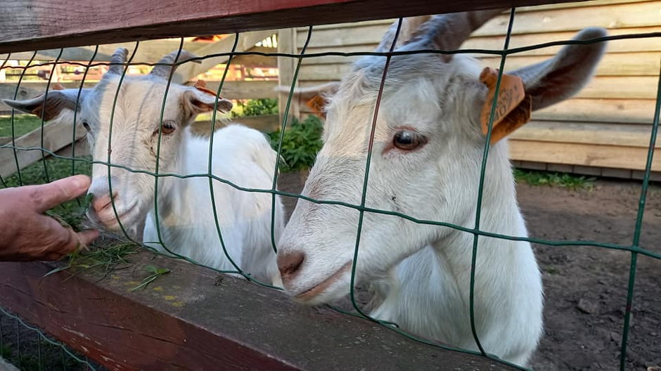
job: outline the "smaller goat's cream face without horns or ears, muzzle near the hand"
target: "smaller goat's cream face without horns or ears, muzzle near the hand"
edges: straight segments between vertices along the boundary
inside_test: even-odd
[[[96,86],[80,112],[92,157],[101,162],[92,166],[88,216],[110,230],[120,228],[118,221],[136,225],[153,207],[156,179],[140,171],[156,172],[158,153],[158,173],[177,174],[182,131],[193,118],[181,110],[180,86],[170,87],[161,124],[165,82],[125,78],[113,105],[118,83],[113,77]]]

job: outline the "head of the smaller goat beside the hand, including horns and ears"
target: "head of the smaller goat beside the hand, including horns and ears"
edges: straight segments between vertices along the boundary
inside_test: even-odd
[[[171,53],[159,62],[172,63],[176,55]],[[125,58],[126,49],[120,48],[111,62],[124,63]],[[143,220],[154,206],[156,179],[147,173],[157,171],[157,157],[158,173],[177,174],[184,129],[199,113],[216,106],[216,97],[205,90],[177,84],[168,88],[170,68],[157,66],[147,76],[122,80],[122,67],[114,65],[94,88],[83,89],[78,101],[78,89],[7,101],[46,120],[71,119],[73,110],[79,110],[77,124],[87,129],[94,160],[89,188],[94,197],[87,215],[108,230],[120,229],[120,221],[124,228],[133,228]],[[231,102],[220,99],[216,107],[230,110]],[[159,182],[159,189],[167,184],[163,178]]]

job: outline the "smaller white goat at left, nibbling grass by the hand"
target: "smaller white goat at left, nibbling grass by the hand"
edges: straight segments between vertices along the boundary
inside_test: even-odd
[[[124,63],[127,50],[117,49],[113,63]],[[177,53],[162,58],[159,63],[174,63]],[[190,57],[186,51],[182,57]],[[95,161],[110,162],[138,171],[155,171],[158,135],[161,133],[159,173],[211,173],[245,188],[270,189],[276,164],[276,152],[265,136],[245,126],[230,125],[217,130],[213,149],[209,154],[208,138],[193,136],[190,124],[202,112],[210,112],[216,104],[214,93],[200,86],[171,84],[167,91],[165,110],[160,121],[167,77],[171,68],[161,65],[147,76],[124,77],[121,65],[113,65],[94,88],[83,89],[79,100],[78,123],[87,129],[91,153]],[[5,100],[8,105],[24,112],[41,115],[50,120],[66,113],[72,115],[76,107],[78,89],[49,91],[32,100]],[[232,103],[219,98],[217,109],[230,110]],[[42,110],[45,108],[45,110]],[[114,110],[114,114],[113,114]],[[43,115],[42,115],[43,112]],[[112,138],[110,120],[113,117]],[[108,175],[113,190],[110,202]],[[158,197],[155,200],[155,178],[120,167],[94,164],[89,193],[94,195],[88,212],[89,219],[109,230],[136,228],[146,217],[143,241],[162,249],[159,240],[170,251],[219,269],[233,270],[219,240],[219,228],[226,250],[243,270],[262,280],[278,278],[276,254],[271,247],[271,195],[237,190],[220,181],[210,185],[206,176],[158,178]],[[212,201],[211,194],[214,200]],[[158,204],[160,239],[157,233],[155,204]],[[115,210],[119,221],[115,217]],[[275,237],[283,229],[283,207],[276,197]]]

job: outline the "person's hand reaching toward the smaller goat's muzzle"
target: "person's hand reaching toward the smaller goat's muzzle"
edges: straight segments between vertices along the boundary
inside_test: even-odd
[[[70,176],[39,186],[0,190],[0,260],[58,260],[86,247],[96,230],[76,233],[44,215],[46,210],[84,195],[89,177]]]

